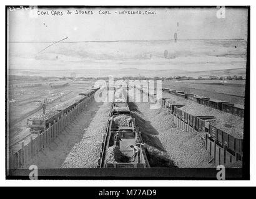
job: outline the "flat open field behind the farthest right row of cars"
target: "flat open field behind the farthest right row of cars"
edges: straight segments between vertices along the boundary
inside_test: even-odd
[[[221,80],[185,80],[185,81],[163,81],[162,88],[185,91],[195,95],[220,99],[234,104],[244,105],[245,81]]]

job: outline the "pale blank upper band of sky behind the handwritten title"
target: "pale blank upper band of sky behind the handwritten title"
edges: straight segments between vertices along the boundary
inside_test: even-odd
[[[67,10],[71,14],[67,14]],[[93,14],[76,14],[77,11]],[[69,42],[109,40],[170,40],[174,33],[182,39],[246,39],[247,10],[225,8],[64,8],[8,12],[9,42],[53,42],[68,37]],[[49,14],[42,15],[48,11]],[[56,12],[55,12],[56,11]],[[59,11],[60,15],[52,15]],[[111,14],[99,14],[107,11]],[[141,11],[144,14],[118,14]],[[154,14],[146,14],[146,12]],[[39,13],[39,15],[37,14]],[[223,13],[223,12],[222,12]],[[222,15],[223,16],[223,15]]]

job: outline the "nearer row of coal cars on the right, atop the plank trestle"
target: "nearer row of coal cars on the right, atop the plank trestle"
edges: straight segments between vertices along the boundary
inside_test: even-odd
[[[182,103],[175,102],[172,104],[167,98],[162,98],[161,100],[162,107],[169,109],[170,113],[175,117],[197,132],[207,132],[209,139],[220,147],[225,147],[237,160],[242,160],[244,134],[242,129],[240,131],[237,130],[238,127],[235,124],[229,124],[219,119],[216,114],[207,116],[200,114],[200,111],[195,110],[196,108],[189,108]]]

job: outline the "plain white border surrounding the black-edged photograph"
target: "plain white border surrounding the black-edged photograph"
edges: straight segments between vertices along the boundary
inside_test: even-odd
[[[250,26],[250,44],[251,44],[251,49],[250,49],[250,55],[251,55],[251,68],[250,68],[250,88],[255,88],[255,69],[254,69],[254,64],[255,64],[255,58],[253,55],[255,55],[255,1],[224,1],[224,0],[215,0],[215,1],[162,1],[162,0],[157,0],[157,1],[84,1],[84,0],[72,0],[72,1],[52,1],[52,0],[40,0],[40,1],[22,1],[23,5],[95,5],[95,6],[212,6],[212,5],[219,5],[219,6],[251,6],[250,7],[250,21],[251,21],[251,26]],[[256,152],[256,139],[255,139],[255,133],[252,129],[252,123],[255,122],[255,103],[251,103],[250,107],[250,181],[192,181],[192,180],[47,180],[47,183],[45,180],[5,180],[5,116],[4,116],[4,98],[5,98],[5,32],[4,32],[4,27],[5,27],[5,5],[22,5],[21,1],[1,1],[1,78],[0,78],[0,84],[1,84],[1,99],[2,103],[0,105],[0,113],[1,114],[1,139],[0,139],[0,186],[254,186],[256,185],[256,157],[255,157],[255,152]],[[250,90],[250,101],[256,101],[255,99],[255,89]],[[72,182],[71,182],[72,181]]]

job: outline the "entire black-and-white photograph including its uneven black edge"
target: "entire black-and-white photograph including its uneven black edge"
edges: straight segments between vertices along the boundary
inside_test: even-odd
[[[250,6],[6,6],[6,178],[245,179],[249,81]]]

